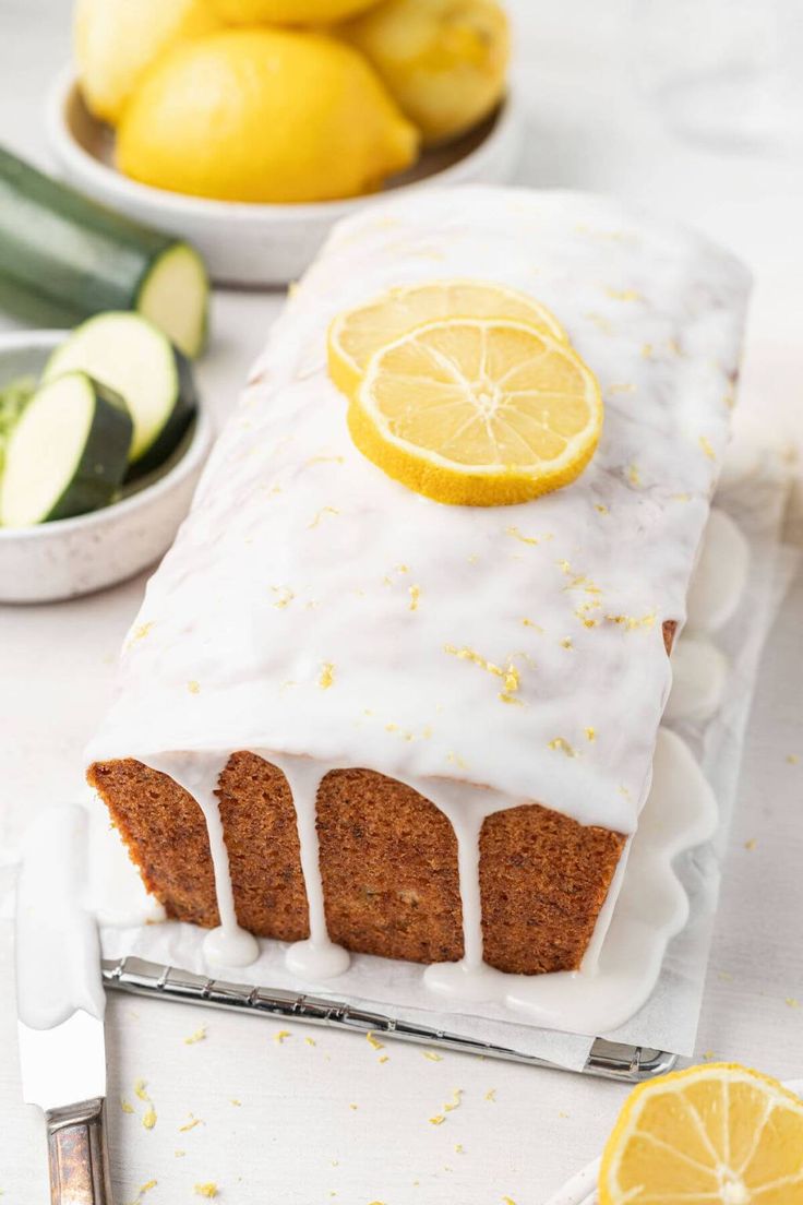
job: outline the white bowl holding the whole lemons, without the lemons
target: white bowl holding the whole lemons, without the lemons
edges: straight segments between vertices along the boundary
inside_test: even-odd
[[[212,201],[138,184],[114,167],[114,131],[89,113],[70,70],[47,100],[47,130],[64,175],[76,188],[137,222],[189,239],[219,284],[287,284],[301,276],[338,218],[376,195],[312,205]],[[522,124],[513,94],[477,129],[427,151],[395,176],[394,193],[427,184],[504,183],[521,145]]]

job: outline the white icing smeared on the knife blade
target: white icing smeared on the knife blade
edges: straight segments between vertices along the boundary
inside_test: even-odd
[[[98,922],[87,906],[88,817],[51,807],[29,827],[17,887],[17,1007],[31,1029],[102,1017]]]

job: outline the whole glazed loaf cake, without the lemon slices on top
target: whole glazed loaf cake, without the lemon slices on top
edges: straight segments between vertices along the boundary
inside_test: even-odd
[[[391,481],[326,372],[336,313],[466,277],[537,298],[602,389],[596,455],[532,502],[447,506]],[[746,294],[704,239],[580,194],[421,192],[336,229],[148,584],[90,750],[170,917],[290,942],[313,978],[343,951],[467,974],[592,964],[649,790]]]

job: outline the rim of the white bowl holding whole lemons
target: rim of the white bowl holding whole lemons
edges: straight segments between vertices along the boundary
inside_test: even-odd
[[[78,89],[78,81],[71,65],[61,69],[55,76],[45,100],[45,124],[51,147],[57,158],[67,165],[72,181],[82,181],[84,187],[95,184],[104,189],[104,195],[117,193],[128,195],[147,205],[152,213],[161,210],[167,223],[191,217],[207,223],[231,223],[240,227],[265,229],[274,223],[302,224],[309,219],[335,222],[337,218],[354,213],[361,206],[376,202],[383,198],[405,196],[411,190],[429,188],[433,184],[459,183],[470,165],[488,154],[489,145],[507,137],[509,128],[519,122],[519,105],[508,81],[508,88],[502,99],[494,127],[486,136],[467,154],[439,171],[432,171],[421,180],[394,186],[379,193],[365,196],[349,196],[333,201],[300,201],[295,204],[271,204],[260,201],[220,201],[205,196],[191,196],[184,193],[172,193],[169,189],[153,188],[138,181],[129,180],[114,167],[110,167],[95,155],[85,151],[75,137],[67,120],[67,104]],[[94,195],[94,194],[93,194]],[[108,202],[102,202],[108,204]]]

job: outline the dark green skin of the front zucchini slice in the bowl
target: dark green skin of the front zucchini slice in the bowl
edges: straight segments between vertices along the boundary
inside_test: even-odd
[[[82,374],[87,376],[87,374]],[[95,413],[89,437],[72,480],[42,519],[69,519],[108,506],[120,488],[128,464],[134,423],[119,393],[87,376],[95,396]],[[48,388],[53,388],[52,384]]]

